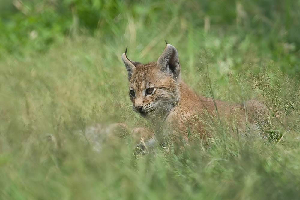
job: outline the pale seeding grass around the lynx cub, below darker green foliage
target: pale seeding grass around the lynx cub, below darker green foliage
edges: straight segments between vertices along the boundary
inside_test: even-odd
[[[125,34],[75,35],[48,52],[7,55],[0,62],[0,199],[298,199],[297,79],[251,34],[174,29],[147,32],[133,21]],[[87,127],[147,126],[127,109],[121,55],[128,46],[129,59],[156,61],[164,39],[198,94],[210,97],[210,81],[221,100],[262,100],[271,110],[262,130],[233,137],[216,125],[208,146],[135,155],[129,129],[94,151]]]

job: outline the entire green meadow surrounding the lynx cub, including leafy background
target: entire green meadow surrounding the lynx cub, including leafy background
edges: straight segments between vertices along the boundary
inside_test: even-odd
[[[0,7],[0,199],[299,199],[299,1]],[[121,55],[157,61],[164,40],[198,94],[258,99],[266,123],[136,154],[131,128],[149,121],[128,109]]]

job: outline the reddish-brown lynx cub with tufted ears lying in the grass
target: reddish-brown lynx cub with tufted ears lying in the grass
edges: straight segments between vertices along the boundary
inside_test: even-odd
[[[129,60],[126,53],[127,49],[122,60],[128,72],[133,110],[153,123],[161,122],[175,136],[187,139],[189,130],[204,136],[205,118],[234,117],[238,125],[247,118],[247,106],[198,96],[182,80],[177,50],[171,44],[167,43],[157,62],[141,64]],[[250,112],[254,110],[251,107]]]

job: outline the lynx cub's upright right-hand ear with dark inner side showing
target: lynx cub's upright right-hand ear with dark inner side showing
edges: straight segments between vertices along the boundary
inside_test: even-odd
[[[176,82],[180,79],[180,64],[177,50],[174,46],[167,43],[164,52],[158,58],[157,66],[161,67],[162,71],[172,74]]]

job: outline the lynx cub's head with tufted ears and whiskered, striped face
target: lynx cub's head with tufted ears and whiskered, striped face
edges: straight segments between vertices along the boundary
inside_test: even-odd
[[[127,58],[122,60],[128,72],[129,96],[132,108],[143,117],[166,116],[179,101],[181,82],[177,50],[167,44],[157,62],[141,64]]]

